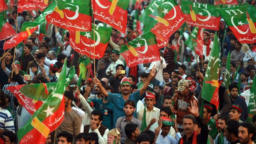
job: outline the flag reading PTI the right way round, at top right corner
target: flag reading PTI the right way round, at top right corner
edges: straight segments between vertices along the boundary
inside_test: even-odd
[[[254,5],[217,9],[217,11],[240,43],[256,43],[256,8]]]

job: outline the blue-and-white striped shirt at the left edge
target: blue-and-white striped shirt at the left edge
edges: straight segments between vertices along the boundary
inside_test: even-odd
[[[7,109],[0,108],[0,129],[11,130],[15,133],[13,117]]]

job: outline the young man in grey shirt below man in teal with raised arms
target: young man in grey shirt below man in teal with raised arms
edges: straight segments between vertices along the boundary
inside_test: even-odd
[[[136,111],[135,109],[135,102],[132,100],[127,100],[125,102],[124,108],[125,116],[119,117],[116,121],[115,128],[119,128],[121,130],[121,143],[125,142],[127,138],[125,134],[125,126],[126,124],[137,124],[138,128],[141,129],[141,121],[139,119],[133,117],[133,112]]]

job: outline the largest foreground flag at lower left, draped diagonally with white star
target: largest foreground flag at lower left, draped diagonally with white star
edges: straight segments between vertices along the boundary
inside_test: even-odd
[[[66,79],[66,61],[57,84],[49,90],[49,97],[32,115],[28,122],[19,129],[17,135],[20,144],[43,144],[50,132],[60,126],[64,119],[64,91]]]

